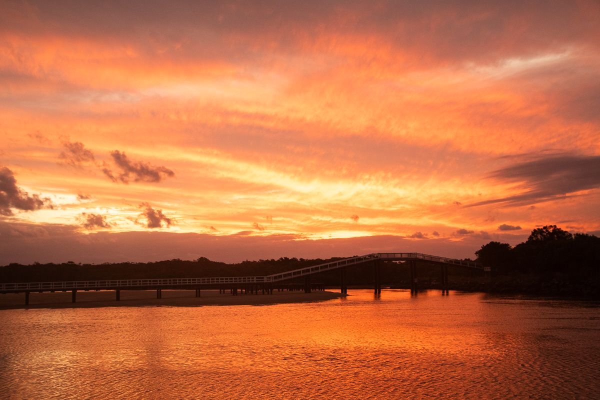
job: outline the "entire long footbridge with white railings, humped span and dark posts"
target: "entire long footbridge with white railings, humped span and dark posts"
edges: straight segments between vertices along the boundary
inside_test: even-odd
[[[291,279],[304,278],[304,291],[310,293],[313,289],[311,276],[317,273],[339,270],[341,293],[347,293],[346,268],[359,264],[372,264],[375,293],[381,293],[381,263],[382,261],[404,261],[410,268],[410,290],[416,291],[418,285],[417,261],[435,263],[440,265],[440,283],[442,291],[448,291],[448,266],[464,267],[489,271],[488,267],[475,261],[457,260],[455,258],[438,257],[415,252],[371,253],[342,260],[329,261],[310,267],[274,273],[266,276],[223,276],[218,278],[165,278],[165,279],[118,279],[107,281],[64,281],[64,282],[23,282],[2,283],[0,293],[25,293],[25,305],[29,304],[29,293],[71,291],[71,300],[76,300],[77,291],[89,290],[115,290],[116,300],[121,299],[121,290],[156,290],[157,299],[162,297],[162,290],[196,290],[196,297],[200,297],[201,289],[218,289],[220,293],[227,290],[233,295],[240,293],[272,294],[274,288],[281,290],[285,284],[282,282]]]

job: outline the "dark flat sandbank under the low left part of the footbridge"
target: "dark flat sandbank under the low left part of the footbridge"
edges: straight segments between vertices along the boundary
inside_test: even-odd
[[[71,292],[31,293],[25,306],[25,293],[0,294],[0,309],[17,308],[81,308],[81,307],[140,307],[140,306],[214,306],[214,305],[269,305],[281,303],[320,302],[338,299],[343,294],[331,291],[274,291],[273,294],[219,294],[218,290],[202,290],[194,297],[194,290],[163,290],[162,299],[155,290],[121,290],[116,301],[113,290],[77,291],[77,301],[71,302]]]

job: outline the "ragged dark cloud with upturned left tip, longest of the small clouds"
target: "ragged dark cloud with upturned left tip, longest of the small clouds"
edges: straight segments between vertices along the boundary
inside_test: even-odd
[[[132,179],[134,182],[160,182],[164,178],[175,176],[175,173],[166,167],[131,161],[125,152],[115,150],[110,152],[110,156],[119,171],[113,173],[108,164],[104,163],[102,172],[113,182],[128,184]]]

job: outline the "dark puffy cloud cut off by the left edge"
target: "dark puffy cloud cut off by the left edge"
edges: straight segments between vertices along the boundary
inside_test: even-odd
[[[0,215],[13,215],[11,208],[23,211],[33,211],[52,207],[50,199],[41,199],[39,195],[29,196],[17,186],[13,172],[7,167],[0,168]]]

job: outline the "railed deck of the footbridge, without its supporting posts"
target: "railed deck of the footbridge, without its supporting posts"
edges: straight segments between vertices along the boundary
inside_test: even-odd
[[[333,269],[340,269],[368,261],[431,261],[434,263],[484,270],[474,261],[456,260],[437,255],[416,252],[371,253],[357,257],[344,258],[319,265],[304,267],[266,276],[223,276],[217,278],[165,278],[165,279],[115,279],[106,281],[64,281],[64,282],[20,282],[0,284],[0,293],[19,293],[23,291],[68,291],[68,290],[148,290],[155,288],[199,288],[221,287],[242,284],[269,284],[286,281],[299,276],[313,275]]]

